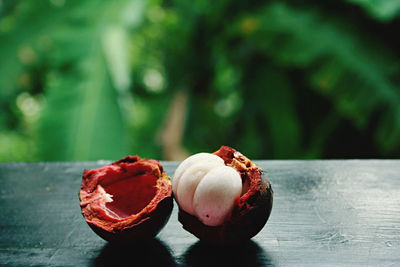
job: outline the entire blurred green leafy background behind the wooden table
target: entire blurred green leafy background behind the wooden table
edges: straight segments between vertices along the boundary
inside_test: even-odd
[[[399,29],[399,0],[0,0],[0,161],[398,158]]]

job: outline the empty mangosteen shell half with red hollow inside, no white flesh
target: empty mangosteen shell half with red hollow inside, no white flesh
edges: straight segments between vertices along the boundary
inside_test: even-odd
[[[79,198],[86,222],[110,242],[156,236],[173,208],[172,185],[161,164],[138,156],[85,170]]]

